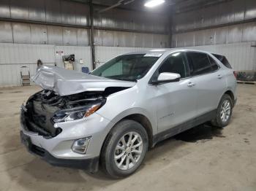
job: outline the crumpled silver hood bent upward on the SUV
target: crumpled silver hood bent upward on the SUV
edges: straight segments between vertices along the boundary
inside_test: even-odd
[[[72,95],[85,91],[104,91],[106,87],[132,87],[136,82],[107,79],[56,66],[41,66],[34,77],[36,85],[53,90],[59,95]]]

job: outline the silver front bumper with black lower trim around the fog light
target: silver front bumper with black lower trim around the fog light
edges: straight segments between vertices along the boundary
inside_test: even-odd
[[[23,109],[21,109],[21,115]],[[42,157],[52,165],[59,165],[71,168],[82,168],[91,172],[97,171],[100,150],[105,137],[113,126],[110,120],[97,113],[91,114],[83,120],[70,122],[59,122],[54,127],[61,128],[58,136],[47,138],[39,133],[31,132],[26,128],[26,122],[20,119],[20,134],[23,133],[29,138],[29,152]],[[77,139],[91,136],[91,141],[86,154],[79,154],[72,151],[72,144]]]

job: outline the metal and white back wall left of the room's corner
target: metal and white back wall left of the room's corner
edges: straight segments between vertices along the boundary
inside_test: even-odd
[[[129,52],[138,49],[133,47],[169,46],[167,17],[124,9],[98,14],[102,8],[94,7],[97,61],[105,61],[102,58],[113,47],[118,52]],[[67,0],[1,0],[0,20],[0,86],[20,85],[20,67],[28,66],[33,75],[38,59],[45,64],[64,66],[61,55],[56,54],[59,50],[64,55],[75,54],[75,70],[80,71],[82,66],[91,69],[88,4]],[[83,59],[83,65],[78,64],[79,59]]]

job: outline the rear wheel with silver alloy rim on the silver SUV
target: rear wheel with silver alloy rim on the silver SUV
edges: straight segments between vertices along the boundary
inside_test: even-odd
[[[232,98],[230,98],[230,95],[223,95],[219,101],[216,118],[211,121],[211,124],[219,128],[225,128],[230,123],[232,109]]]

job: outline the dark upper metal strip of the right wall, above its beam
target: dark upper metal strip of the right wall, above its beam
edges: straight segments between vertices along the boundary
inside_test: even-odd
[[[255,0],[233,0],[176,14],[173,31],[191,31],[256,18]]]

